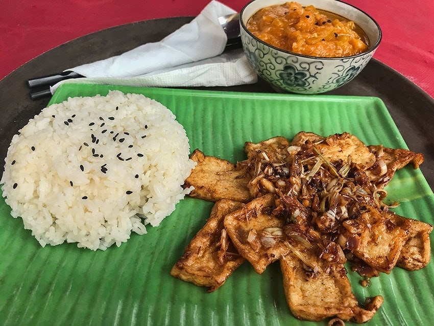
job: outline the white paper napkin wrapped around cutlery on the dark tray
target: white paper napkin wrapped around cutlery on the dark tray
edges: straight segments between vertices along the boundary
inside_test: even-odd
[[[218,17],[231,13],[235,11],[213,0],[191,22],[159,42],[66,69],[86,78],[62,81],[51,91],[63,82],[147,87],[255,83],[257,75],[242,50],[223,53],[227,36]]]

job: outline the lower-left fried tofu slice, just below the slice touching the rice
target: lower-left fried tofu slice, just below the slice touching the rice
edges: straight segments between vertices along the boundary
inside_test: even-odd
[[[216,202],[206,224],[185,248],[181,259],[173,266],[171,275],[185,282],[208,287],[208,292],[220,288],[245,261],[236,252],[223,225],[224,217],[242,205],[230,199]]]

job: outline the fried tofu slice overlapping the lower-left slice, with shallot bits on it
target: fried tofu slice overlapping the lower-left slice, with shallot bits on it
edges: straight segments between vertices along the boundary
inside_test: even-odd
[[[274,207],[274,195],[264,195],[228,214],[224,220],[233,245],[258,274],[289,250],[282,240],[283,221],[271,215]]]

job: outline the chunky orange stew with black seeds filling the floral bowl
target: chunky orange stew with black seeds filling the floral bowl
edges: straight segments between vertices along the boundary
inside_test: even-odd
[[[260,9],[247,29],[263,42],[302,55],[348,57],[368,50],[366,35],[353,21],[297,2]]]

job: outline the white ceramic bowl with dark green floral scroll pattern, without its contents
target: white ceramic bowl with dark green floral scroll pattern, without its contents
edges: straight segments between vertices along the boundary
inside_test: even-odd
[[[297,1],[297,0],[296,0]],[[285,0],[253,0],[240,12],[244,52],[256,73],[277,90],[299,94],[320,94],[341,87],[356,77],[372,58],[381,40],[377,22],[365,12],[337,0],[298,0],[303,6],[341,15],[355,22],[369,38],[366,52],[343,58],[320,58],[292,53],[269,45],[252,33],[246,24],[259,9],[283,4]]]

